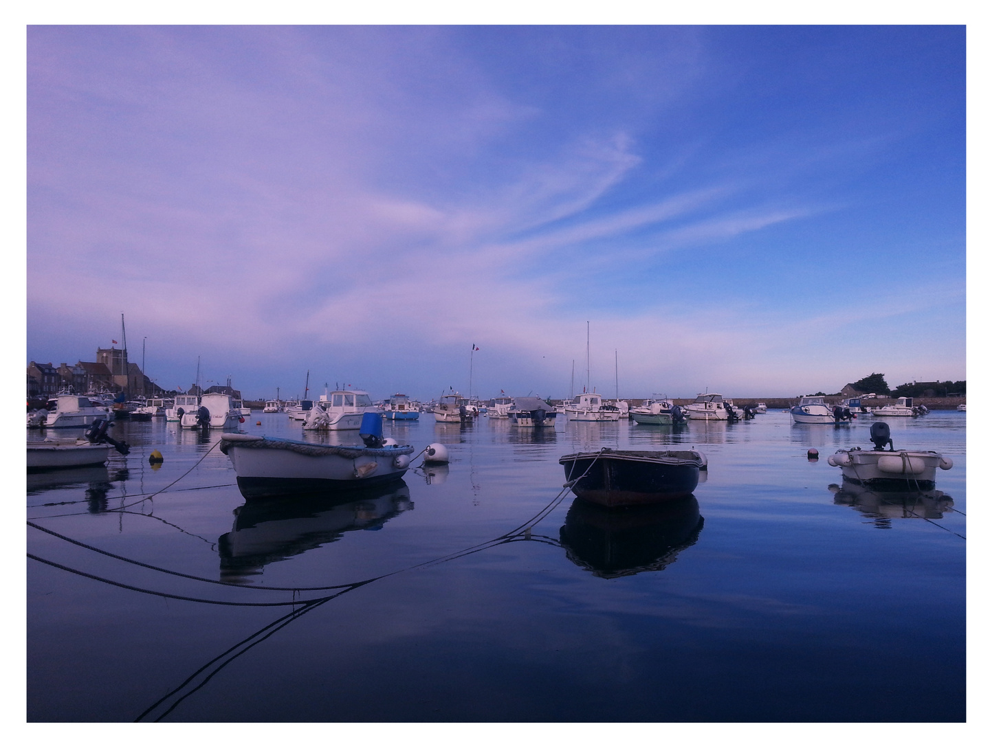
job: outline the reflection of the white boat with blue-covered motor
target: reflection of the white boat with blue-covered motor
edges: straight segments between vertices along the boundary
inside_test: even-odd
[[[359,492],[251,500],[234,510],[234,525],[218,540],[220,579],[247,582],[271,562],[339,540],[348,530],[377,530],[412,510],[401,483]]]

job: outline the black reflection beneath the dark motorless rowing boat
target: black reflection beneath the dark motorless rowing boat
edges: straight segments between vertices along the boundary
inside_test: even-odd
[[[574,564],[610,580],[666,569],[697,542],[704,523],[693,495],[615,510],[575,499],[560,527],[560,544]]]

